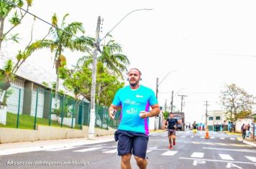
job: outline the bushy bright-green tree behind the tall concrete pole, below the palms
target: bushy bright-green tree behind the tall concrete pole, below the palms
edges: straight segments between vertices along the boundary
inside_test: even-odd
[[[73,92],[76,98],[82,97],[87,100],[91,98],[91,68],[89,64],[91,63],[88,61],[82,67],[60,70],[60,77],[65,79],[64,87]],[[98,69],[99,67],[101,66],[97,66]],[[96,98],[99,100],[97,103],[99,105],[110,105],[116,91],[124,87],[124,82],[119,82],[115,75],[104,71],[97,74],[96,83],[101,84],[101,88],[97,87],[96,91]],[[101,97],[99,97],[99,93],[101,93]]]

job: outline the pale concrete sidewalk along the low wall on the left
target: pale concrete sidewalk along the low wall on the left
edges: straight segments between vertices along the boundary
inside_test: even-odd
[[[0,156],[40,150],[51,150],[56,148],[70,148],[79,145],[91,145],[111,141],[114,141],[114,135],[99,136],[95,137],[93,140],[82,137],[59,140],[40,140],[34,142],[6,143],[0,144]]]

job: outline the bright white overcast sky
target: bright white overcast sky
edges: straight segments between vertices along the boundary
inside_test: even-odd
[[[86,35],[95,37],[98,16],[104,19],[100,37],[104,37],[124,16],[129,14],[111,32],[122,45],[123,53],[131,64],[142,72],[141,84],[155,91],[163,106],[170,105],[174,91],[174,105],[186,120],[201,121],[208,111],[221,110],[219,96],[226,84],[237,84],[250,95],[256,96],[256,11],[255,1],[244,0],[34,0],[30,12],[50,22],[52,14],[59,19],[68,13],[67,21],[81,21]],[[20,26],[23,44],[28,42],[32,17],[27,16]],[[49,25],[35,22],[35,39],[47,34]],[[8,42],[15,54],[22,44]],[[76,64],[83,54],[65,52],[68,66]],[[45,67],[52,74],[53,54],[48,50],[35,52],[27,64]],[[52,64],[49,64],[52,63]],[[171,72],[170,74],[168,74]],[[49,73],[49,76],[52,76]],[[126,82],[127,83],[127,82]]]

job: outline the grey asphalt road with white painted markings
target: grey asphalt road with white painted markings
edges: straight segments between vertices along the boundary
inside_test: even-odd
[[[256,148],[223,132],[176,132],[177,145],[168,149],[167,132],[152,132],[148,144],[147,168],[256,168]],[[1,168],[120,168],[116,142],[52,148],[0,156]],[[8,165],[7,165],[8,164]],[[132,168],[137,168],[132,157]]]

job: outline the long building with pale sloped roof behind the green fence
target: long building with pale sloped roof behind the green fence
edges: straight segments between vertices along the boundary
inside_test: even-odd
[[[6,61],[10,59],[4,54],[0,54],[0,69],[3,69]],[[33,117],[49,118],[50,113],[54,112],[55,104],[63,110],[67,108],[67,115],[71,116],[73,102],[68,102],[63,96],[58,96],[57,102],[52,95],[52,89],[46,87],[43,82],[52,84],[55,82],[56,74],[50,70],[40,67],[38,64],[29,64],[24,62],[16,73],[17,77],[12,81],[11,94],[6,105],[7,112],[19,115],[30,115]],[[60,80],[61,83],[61,80]],[[67,96],[73,95],[66,91],[60,84],[60,90],[64,90]],[[62,104],[63,103],[63,104]],[[62,106],[62,107],[61,107]],[[76,114],[76,124],[88,122],[89,120],[89,102],[83,99],[83,103],[74,108]],[[65,115],[63,116],[65,117]],[[51,117],[52,118],[52,117]],[[83,118],[83,120],[82,120]]]

